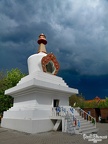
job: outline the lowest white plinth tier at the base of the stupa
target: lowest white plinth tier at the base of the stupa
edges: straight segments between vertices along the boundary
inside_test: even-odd
[[[24,120],[24,119],[2,119],[2,127],[27,133],[40,133],[53,129],[50,119]]]

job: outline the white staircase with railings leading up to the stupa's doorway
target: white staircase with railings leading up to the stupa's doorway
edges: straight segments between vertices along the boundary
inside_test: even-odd
[[[60,107],[60,117],[62,119],[63,132],[70,134],[91,134],[98,132],[95,118],[80,108]],[[55,130],[57,130],[56,127],[59,127],[59,123],[60,120],[55,124]]]

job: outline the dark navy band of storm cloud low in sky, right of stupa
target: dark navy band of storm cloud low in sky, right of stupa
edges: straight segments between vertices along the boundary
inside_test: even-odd
[[[60,70],[59,75],[70,87],[78,88],[85,99],[108,97],[108,75],[80,75],[74,69]]]

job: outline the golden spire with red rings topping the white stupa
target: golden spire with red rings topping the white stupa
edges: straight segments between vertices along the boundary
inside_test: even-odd
[[[47,53],[45,48],[45,45],[47,44],[47,40],[46,40],[46,36],[43,33],[39,35],[39,39],[37,43],[39,44],[38,52]]]

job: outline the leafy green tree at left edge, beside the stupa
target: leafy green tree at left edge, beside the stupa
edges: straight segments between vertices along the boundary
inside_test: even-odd
[[[5,90],[16,86],[24,76],[25,74],[23,74],[18,68],[6,71],[6,73],[3,71],[0,72],[0,114],[13,105],[13,98],[5,95]]]

